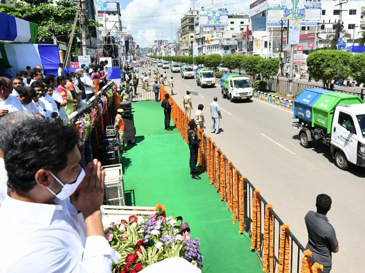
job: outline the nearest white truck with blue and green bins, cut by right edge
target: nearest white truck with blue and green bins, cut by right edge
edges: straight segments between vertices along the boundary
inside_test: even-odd
[[[304,89],[294,100],[293,126],[300,128],[300,145],[318,140],[330,147],[335,165],[365,167],[365,104],[358,96]]]

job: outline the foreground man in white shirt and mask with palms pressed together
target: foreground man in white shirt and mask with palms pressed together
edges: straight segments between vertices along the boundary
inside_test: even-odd
[[[105,173],[97,159],[82,170],[78,138],[47,120],[13,132],[4,149],[11,191],[0,207],[1,272],[110,273],[118,263],[101,222]]]

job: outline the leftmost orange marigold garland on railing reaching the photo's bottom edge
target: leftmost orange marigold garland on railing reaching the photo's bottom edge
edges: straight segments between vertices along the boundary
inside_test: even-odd
[[[264,257],[262,260],[263,268],[262,272],[267,272],[268,268],[270,272],[274,272],[274,238],[273,238],[273,215],[270,212],[273,206],[269,203],[265,207],[265,220],[264,220]],[[269,249],[270,246],[270,249]],[[302,272],[303,273],[303,272]]]

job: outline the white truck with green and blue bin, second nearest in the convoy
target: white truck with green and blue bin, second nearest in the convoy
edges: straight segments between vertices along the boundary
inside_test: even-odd
[[[253,90],[249,78],[241,75],[226,73],[220,78],[222,88],[222,98],[228,98],[230,102],[234,100],[250,100]]]

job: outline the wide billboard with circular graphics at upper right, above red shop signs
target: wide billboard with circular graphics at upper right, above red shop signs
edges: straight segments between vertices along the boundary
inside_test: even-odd
[[[296,15],[293,16],[293,3],[296,1]],[[283,19],[299,19],[300,25],[320,23],[322,1],[314,0],[268,0],[267,25],[281,27]]]

